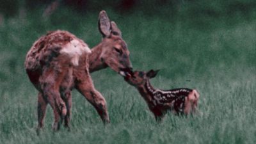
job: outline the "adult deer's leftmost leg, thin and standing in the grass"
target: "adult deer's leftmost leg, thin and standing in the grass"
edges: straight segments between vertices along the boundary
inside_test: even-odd
[[[39,134],[40,129],[44,127],[44,118],[45,112],[47,108],[47,100],[44,99],[43,94],[41,92],[38,93],[38,104],[37,104],[37,116],[38,116],[38,126],[37,133]]]

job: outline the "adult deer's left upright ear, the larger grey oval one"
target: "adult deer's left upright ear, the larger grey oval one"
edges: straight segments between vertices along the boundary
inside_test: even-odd
[[[111,23],[110,23],[110,20],[108,19],[107,13],[104,10],[102,10],[99,14],[98,26],[99,26],[99,31],[103,37],[110,35]]]

